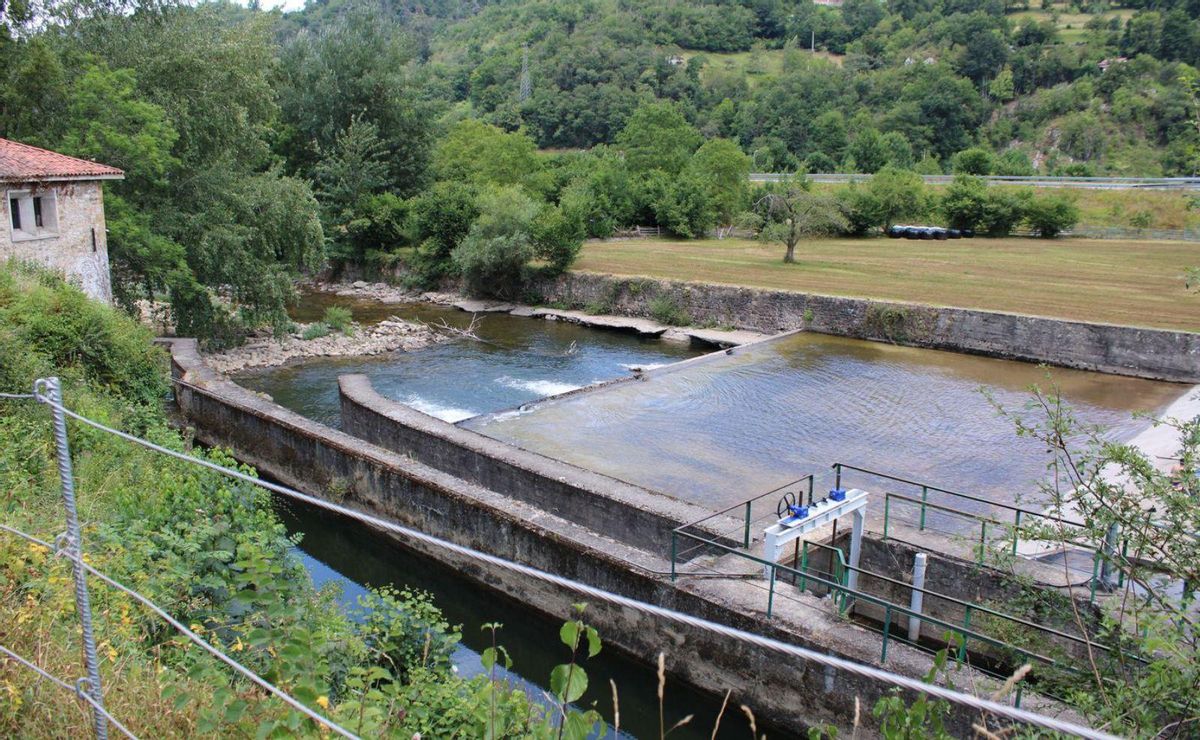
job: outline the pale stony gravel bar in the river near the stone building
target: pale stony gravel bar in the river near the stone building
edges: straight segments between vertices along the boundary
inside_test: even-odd
[[[205,362],[217,372],[232,373],[252,367],[274,367],[306,357],[382,355],[420,349],[446,338],[426,326],[397,318],[371,326],[354,324],[347,333],[334,331],[313,339],[304,338],[307,327],[308,325],[298,324],[293,333],[281,338],[252,337],[241,347],[205,355]]]

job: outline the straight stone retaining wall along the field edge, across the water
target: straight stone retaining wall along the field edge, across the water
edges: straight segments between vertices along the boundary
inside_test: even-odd
[[[806,329],[1139,378],[1200,381],[1200,333],[1194,332],[587,272],[540,283],[536,291],[547,302],[604,305],[626,315],[648,317],[650,301],[665,297],[695,323],[768,333]]]

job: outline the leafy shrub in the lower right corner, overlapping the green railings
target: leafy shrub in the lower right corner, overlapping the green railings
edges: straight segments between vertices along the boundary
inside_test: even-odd
[[[1118,542],[1104,558],[1111,586],[1102,589],[1098,622],[1070,604],[1078,634],[1117,650],[1090,650],[1062,691],[1093,727],[1122,736],[1192,734],[1200,643],[1188,584],[1200,577],[1200,416],[1156,422],[1180,440],[1163,471],[1146,452],[1081,428],[1056,393],[1034,391],[1027,409],[1001,411],[1052,456],[1054,475],[1039,492],[1046,513],[1081,525],[1026,523],[1020,536],[1094,546],[1111,530]]]

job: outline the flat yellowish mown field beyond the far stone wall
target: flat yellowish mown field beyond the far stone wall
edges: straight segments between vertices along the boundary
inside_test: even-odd
[[[1092,239],[628,239],[584,245],[576,269],[1200,331],[1184,270],[1200,243]]]

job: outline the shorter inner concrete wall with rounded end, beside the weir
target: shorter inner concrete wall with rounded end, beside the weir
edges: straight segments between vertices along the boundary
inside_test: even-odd
[[[434,419],[380,396],[366,375],[342,375],[338,389],[348,434],[634,547],[666,553],[674,528],[712,513]],[[716,524],[716,531],[737,527]]]

